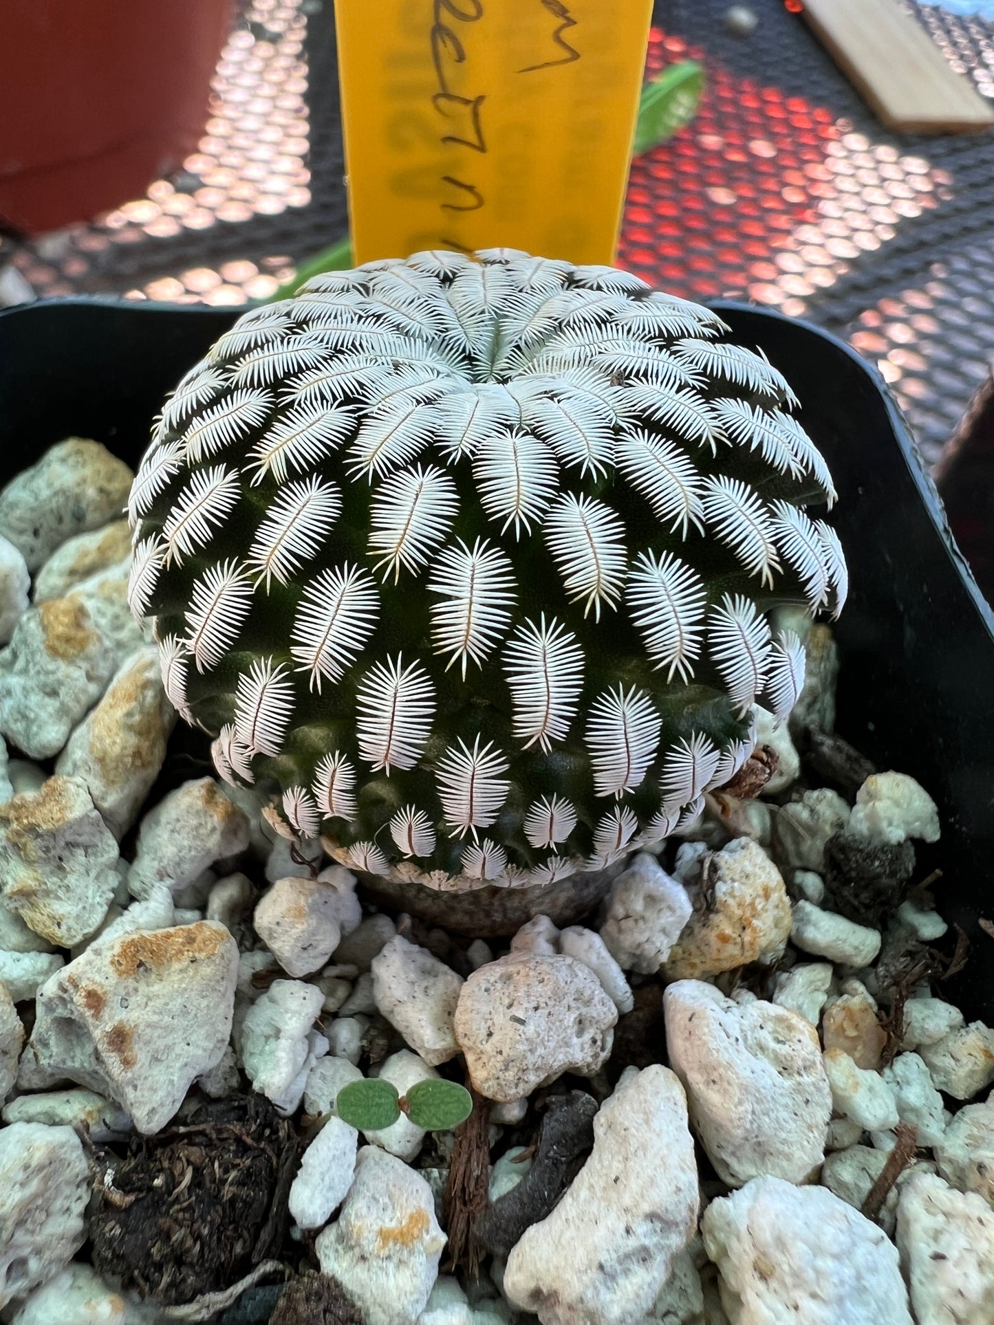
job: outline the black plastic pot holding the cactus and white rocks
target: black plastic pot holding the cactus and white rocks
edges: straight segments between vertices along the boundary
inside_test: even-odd
[[[848,346],[777,313],[720,303],[789,378],[839,489],[852,591],[838,625],[839,731],[936,798],[938,908],[971,943],[948,998],[994,1020],[994,613],[953,543],[907,424]],[[0,482],[69,435],[129,462],[179,376],[236,311],[65,299],[0,313]]]

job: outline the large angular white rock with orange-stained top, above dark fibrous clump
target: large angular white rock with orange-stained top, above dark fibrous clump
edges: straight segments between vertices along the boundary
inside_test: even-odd
[[[237,945],[213,921],[98,939],[38,990],[21,1085],[69,1079],[158,1132],[220,1061],[237,973]]]

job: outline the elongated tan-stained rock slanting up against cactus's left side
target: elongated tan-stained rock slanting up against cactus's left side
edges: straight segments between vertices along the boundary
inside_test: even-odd
[[[86,784],[118,840],[159,775],[175,722],[176,710],[159,673],[159,651],[144,647],[125,661],[58,757],[56,772]]]

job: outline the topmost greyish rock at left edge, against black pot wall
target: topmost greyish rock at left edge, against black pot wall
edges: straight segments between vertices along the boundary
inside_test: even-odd
[[[68,538],[119,515],[133,478],[98,441],[68,437],[0,492],[0,534],[36,571]]]

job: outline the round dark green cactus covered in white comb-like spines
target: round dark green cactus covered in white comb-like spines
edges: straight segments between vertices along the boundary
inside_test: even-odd
[[[492,249],[311,280],[167,400],[130,498],[170,698],[394,882],[603,871],[688,823],[838,612],[795,398],[708,309]]]

